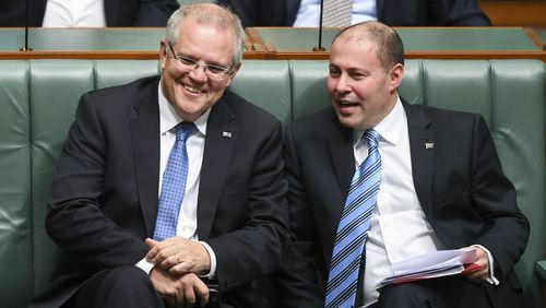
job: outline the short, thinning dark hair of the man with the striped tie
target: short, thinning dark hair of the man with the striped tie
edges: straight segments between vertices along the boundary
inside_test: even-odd
[[[404,64],[404,44],[399,34],[380,22],[364,22],[354,24],[341,31],[332,42],[339,38],[366,40],[377,45],[377,57],[384,68],[396,63]]]

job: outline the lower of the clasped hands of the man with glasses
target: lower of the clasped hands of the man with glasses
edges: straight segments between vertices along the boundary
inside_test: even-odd
[[[209,288],[193,273],[171,275],[154,268],[150,280],[168,307],[193,307],[198,297],[202,307],[209,303]]]

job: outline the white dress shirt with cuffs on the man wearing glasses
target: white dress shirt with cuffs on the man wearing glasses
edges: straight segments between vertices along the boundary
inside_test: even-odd
[[[159,193],[163,183],[163,174],[167,166],[167,161],[169,158],[170,150],[176,142],[176,126],[182,122],[182,119],[176,112],[175,108],[167,100],[163,94],[162,86],[159,84],[158,90],[158,102],[159,102],[159,142],[161,142],[161,153],[159,153]],[[203,151],[205,144],[206,135],[206,120],[211,109],[209,108],[201,117],[199,117],[193,123],[198,128],[198,131],[188,138],[186,141],[186,150],[188,151],[188,177],[186,179],[186,190],[183,194],[182,204],[180,206],[180,213],[178,215],[177,225],[177,236],[190,239],[199,240],[197,229],[198,229],[198,198],[199,198],[199,181],[201,177],[201,166],[203,163]],[[211,257],[211,271],[205,275],[207,279],[214,277],[216,272],[216,256],[212,248],[204,241],[200,241],[209,256]],[[153,264],[141,260],[138,264],[139,268],[143,269],[145,272],[150,273]]]

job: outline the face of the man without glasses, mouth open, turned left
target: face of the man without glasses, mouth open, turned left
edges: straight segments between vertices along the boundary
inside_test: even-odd
[[[337,38],[330,52],[328,92],[340,122],[352,129],[373,128],[392,110],[404,68],[385,68],[368,39]]]

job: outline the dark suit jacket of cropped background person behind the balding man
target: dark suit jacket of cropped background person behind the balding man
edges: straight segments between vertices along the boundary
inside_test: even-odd
[[[232,8],[244,26],[292,26],[301,1],[219,0],[218,3]],[[376,16],[390,26],[490,25],[475,0],[377,0]],[[318,25],[319,17],[316,20]]]

